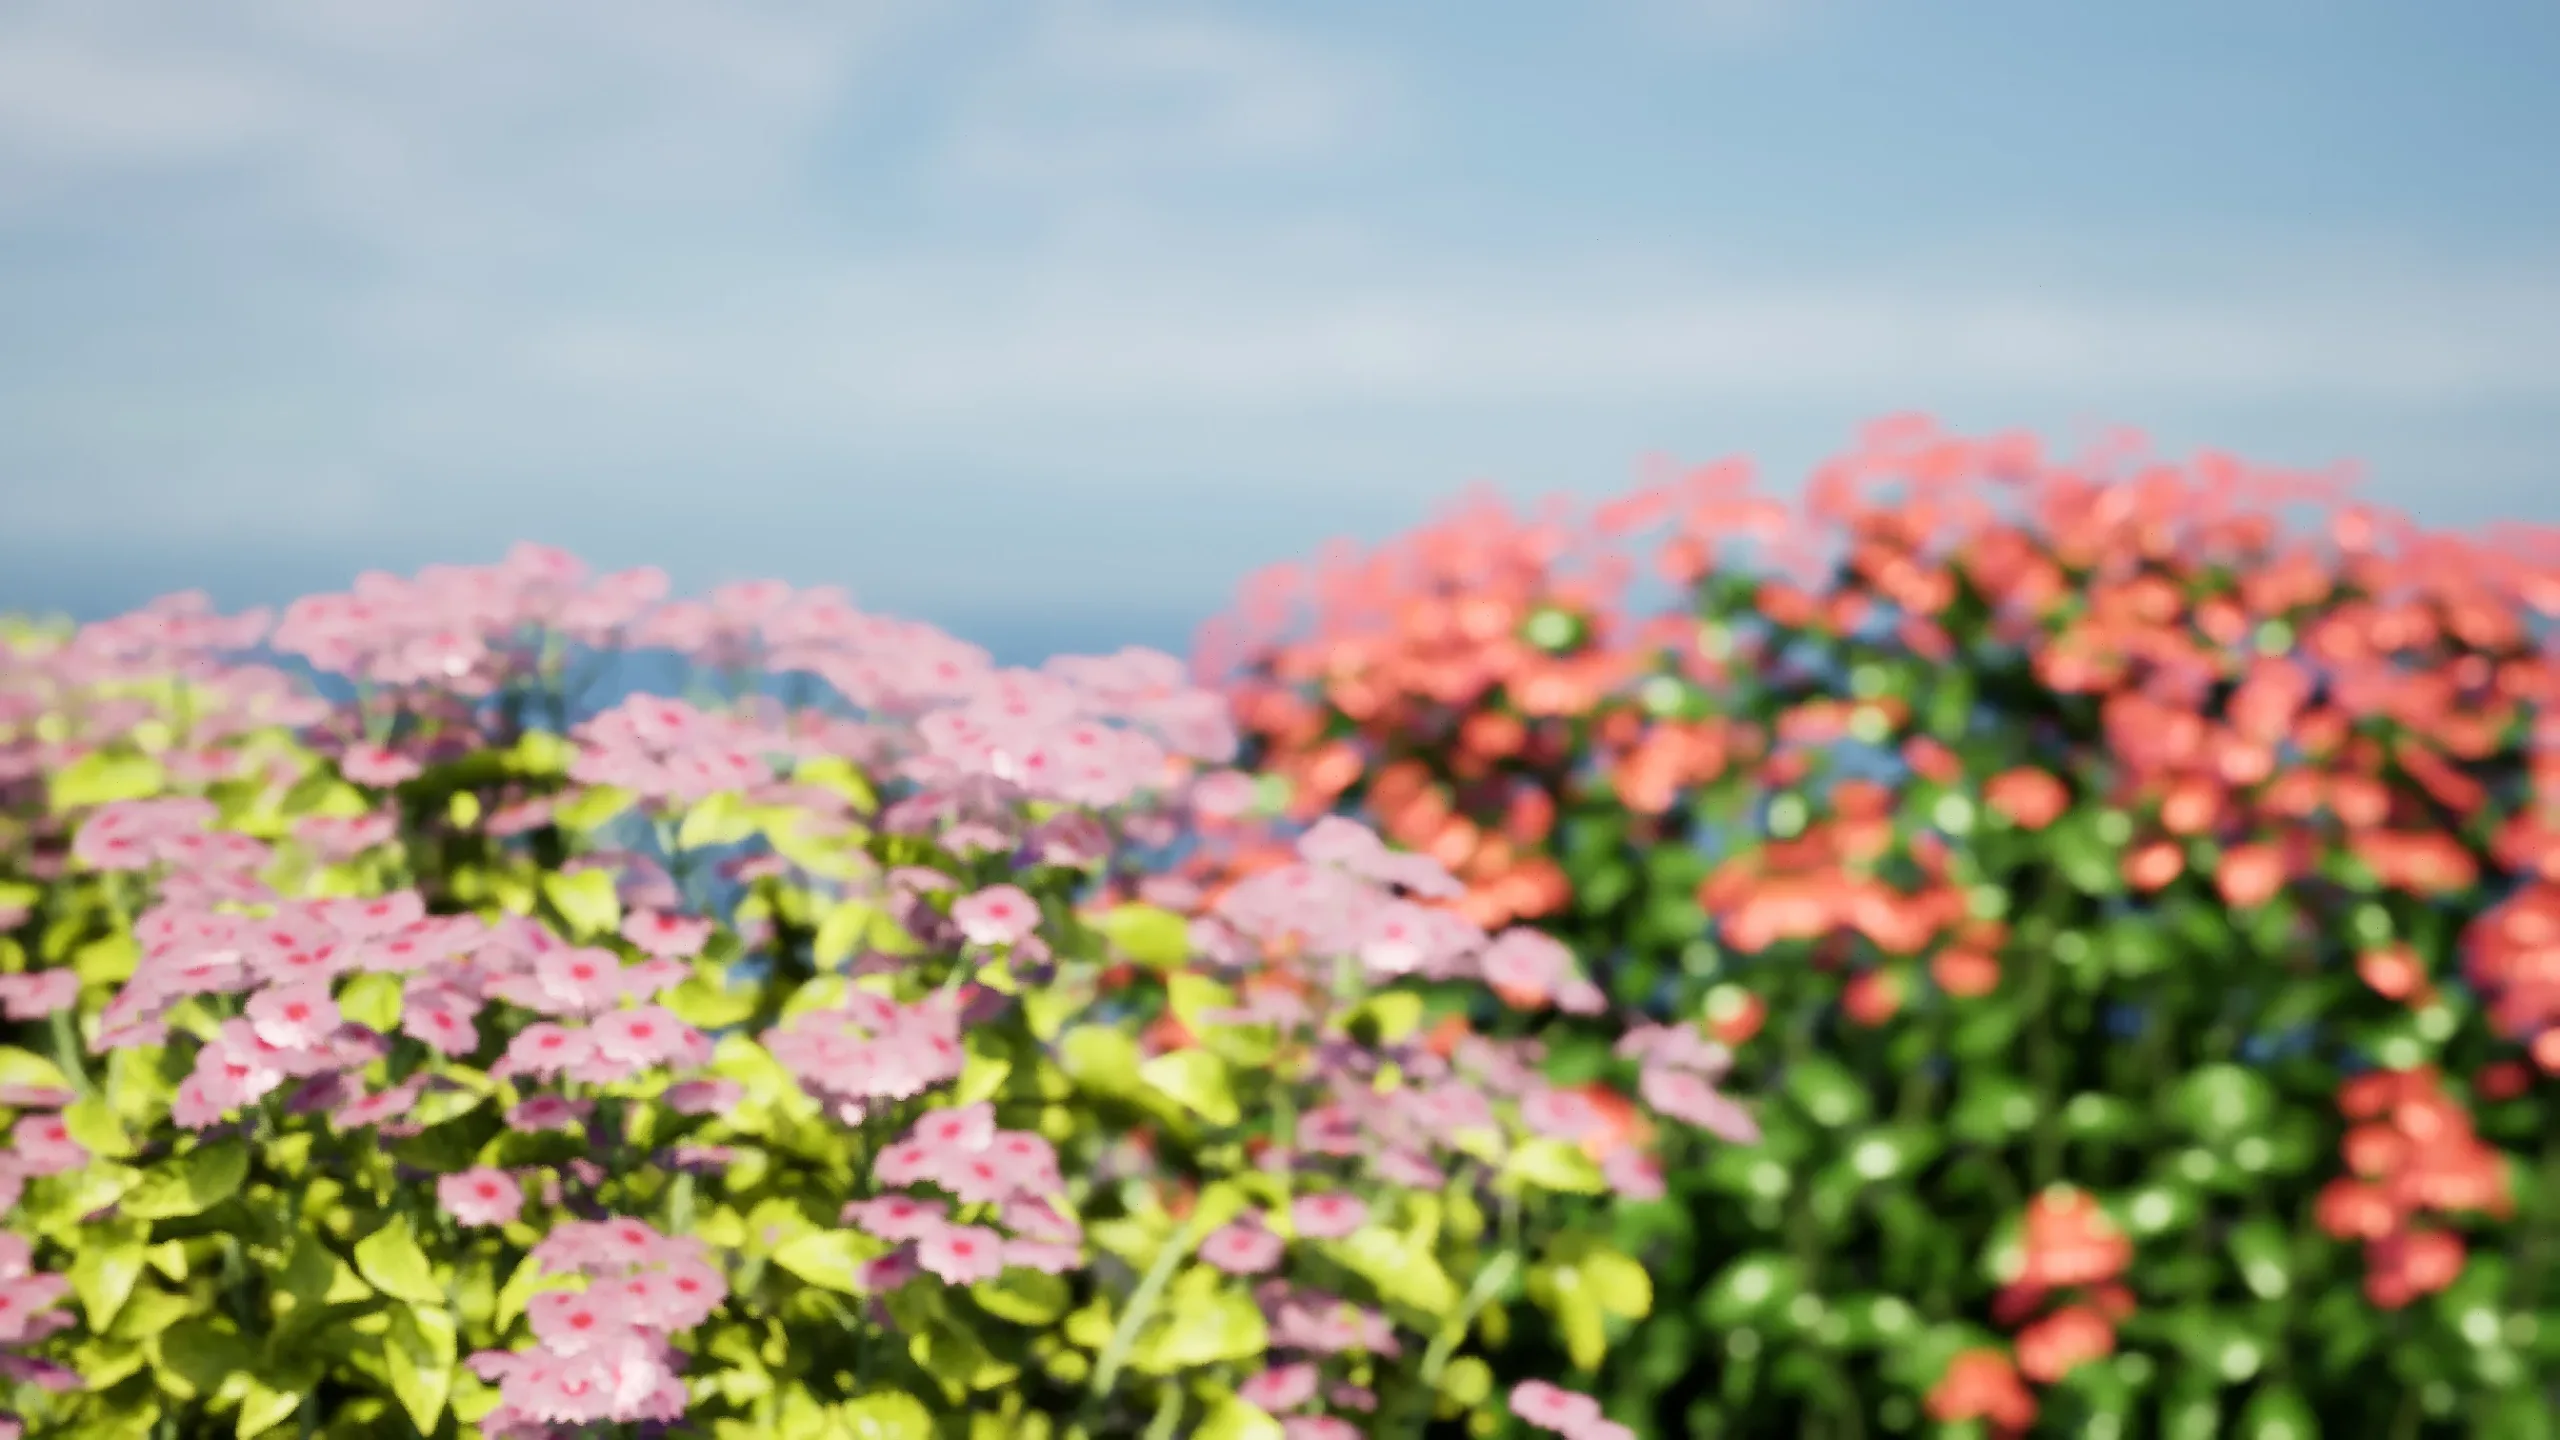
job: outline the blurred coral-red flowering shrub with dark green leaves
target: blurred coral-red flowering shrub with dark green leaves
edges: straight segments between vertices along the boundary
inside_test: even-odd
[[[1682,1304],[1498,1366],[1654,1435],[2547,1435],[2555,618],[2552,533],[1897,418],[1797,502],[1715,464],[1260,577],[1198,669],[1277,802],[1774,1094],[1615,1209]],[[1615,1045],[1490,989],[1559,1076]]]

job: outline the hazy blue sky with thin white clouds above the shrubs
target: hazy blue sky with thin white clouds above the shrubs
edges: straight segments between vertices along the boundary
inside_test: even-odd
[[[2555,520],[2555,72],[2540,0],[15,0],[0,607],[540,538],[1180,643],[1910,407]]]

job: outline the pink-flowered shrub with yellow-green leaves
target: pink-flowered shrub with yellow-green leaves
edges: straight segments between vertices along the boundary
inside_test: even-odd
[[[1254,781],[1167,656],[540,548],[5,646],[10,1432],[1603,1440],[1487,1355],[1756,1135],[1469,1027],[1605,1004],[1362,825],[1178,876]]]

